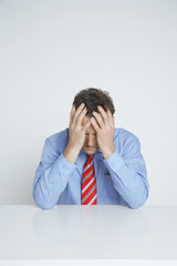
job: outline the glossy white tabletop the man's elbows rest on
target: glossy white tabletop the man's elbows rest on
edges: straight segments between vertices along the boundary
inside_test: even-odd
[[[41,209],[1,205],[0,263],[49,265],[49,259],[53,265],[80,265],[81,259],[97,265],[166,265],[162,263],[167,260],[167,265],[177,265],[177,206],[60,205]],[[70,264],[70,259],[79,260]]]

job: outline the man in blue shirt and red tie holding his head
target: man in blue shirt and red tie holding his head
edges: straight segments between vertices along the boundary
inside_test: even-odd
[[[45,140],[32,193],[41,208],[55,204],[140,207],[149,184],[140,142],[114,126],[114,105],[100,89],[80,91],[69,127]]]

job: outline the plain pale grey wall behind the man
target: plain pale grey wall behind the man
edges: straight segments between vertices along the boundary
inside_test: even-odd
[[[177,204],[177,1],[0,1],[0,204],[32,204],[44,140],[75,93],[108,91],[136,134],[147,205]]]

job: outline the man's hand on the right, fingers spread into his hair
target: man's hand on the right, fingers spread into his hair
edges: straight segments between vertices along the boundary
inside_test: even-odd
[[[102,150],[104,158],[107,158],[115,152],[114,146],[114,116],[111,111],[106,112],[102,106],[97,106],[100,113],[92,112],[94,117],[91,117],[91,123],[96,131],[97,144]]]

